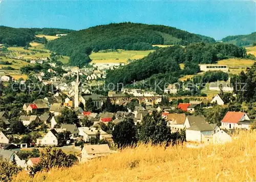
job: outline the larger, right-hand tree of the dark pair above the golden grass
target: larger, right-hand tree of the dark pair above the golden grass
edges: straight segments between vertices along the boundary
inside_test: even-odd
[[[159,144],[172,141],[172,134],[167,123],[162,119],[161,113],[153,111],[152,115],[146,115],[138,128],[138,140],[144,143]]]

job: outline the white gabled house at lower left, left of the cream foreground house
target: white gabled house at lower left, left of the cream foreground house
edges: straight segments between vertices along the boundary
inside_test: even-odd
[[[58,145],[58,133],[55,129],[51,129],[42,139],[36,139],[37,146],[57,146]]]

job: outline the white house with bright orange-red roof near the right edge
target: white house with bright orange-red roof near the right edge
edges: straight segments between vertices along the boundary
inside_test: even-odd
[[[242,125],[239,125],[238,122],[250,120],[245,112],[233,112],[228,111],[225,117],[221,121],[222,129],[235,129],[242,128]]]

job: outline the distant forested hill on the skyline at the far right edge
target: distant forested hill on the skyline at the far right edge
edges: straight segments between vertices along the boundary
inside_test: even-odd
[[[223,38],[222,41],[238,46],[252,45],[254,42],[256,42],[256,32],[253,32],[249,35],[227,36]]]

